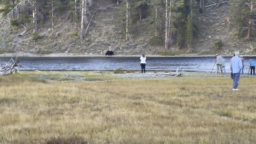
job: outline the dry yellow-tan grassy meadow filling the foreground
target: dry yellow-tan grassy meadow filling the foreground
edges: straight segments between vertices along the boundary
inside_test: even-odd
[[[0,76],[0,143],[256,143],[255,77]]]

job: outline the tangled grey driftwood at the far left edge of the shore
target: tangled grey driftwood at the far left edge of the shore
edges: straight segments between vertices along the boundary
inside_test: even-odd
[[[0,75],[9,75],[12,73],[17,73],[19,71],[19,69],[17,67],[21,67],[19,65],[19,60],[18,58],[15,58],[15,60],[13,60],[13,58],[11,58],[9,60],[9,62],[5,63],[5,65],[1,66],[0,69]]]

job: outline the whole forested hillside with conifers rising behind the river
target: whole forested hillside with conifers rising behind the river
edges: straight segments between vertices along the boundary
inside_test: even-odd
[[[0,0],[0,53],[253,54],[256,0]]]

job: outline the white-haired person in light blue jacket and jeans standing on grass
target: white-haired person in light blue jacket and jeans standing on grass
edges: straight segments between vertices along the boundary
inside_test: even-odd
[[[235,57],[233,57],[230,61],[230,69],[233,73],[233,91],[238,91],[237,86],[239,83],[240,73],[242,69],[242,60],[238,57],[239,51],[235,52]]]

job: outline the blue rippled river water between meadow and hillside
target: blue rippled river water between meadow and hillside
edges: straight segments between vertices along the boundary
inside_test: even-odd
[[[231,57],[224,57],[229,72]],[[245,57],[245,73],[249,70],[249,59]],[[10,58],[0,58],[3,65]],[[140,70],[140,57],[20,57],[20,70]],[[179,70],[215,72],[215,57],[147,57],[146,70]],[[214,67],[213,67],[214,65]]]

